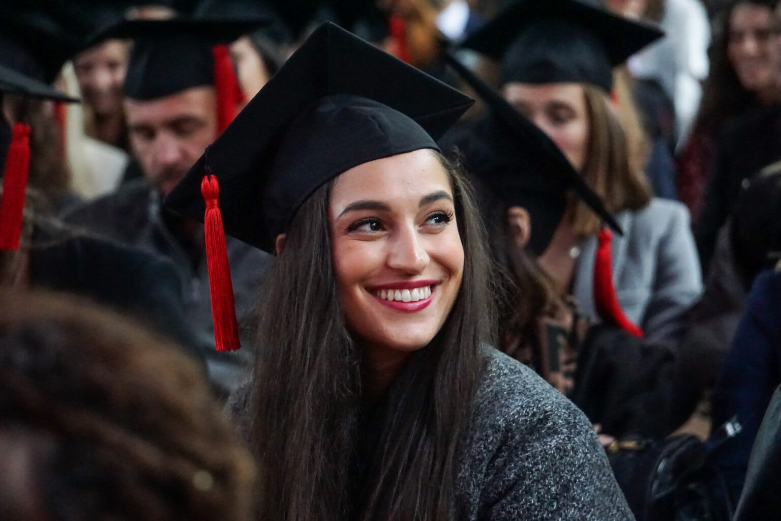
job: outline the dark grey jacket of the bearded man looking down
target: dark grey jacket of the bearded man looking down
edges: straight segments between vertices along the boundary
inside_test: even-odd
[[[226,237],[237,318],[244,348],[217,352],[214,347],[209,273],[202,246],[191,244],[177,217],[162,209],[157,191],[144,179],[131,181],[66,216],[66,221],[95,234],[161,255],[173,262],[182,288],[187,322],[205,355],[213,384],[228,391],[245,378],[251,363],[255,299],[271,256]],[[198,225],[203,234],[203,227]]]

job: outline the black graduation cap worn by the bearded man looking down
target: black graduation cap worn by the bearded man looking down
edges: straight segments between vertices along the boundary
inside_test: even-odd
[[[132,39],[124,93],[128,98],[163,98],[215,82],[213,47],[255,30],[266,19],[172,18],[123,20],[98,31],[84,48],[111,38]]]

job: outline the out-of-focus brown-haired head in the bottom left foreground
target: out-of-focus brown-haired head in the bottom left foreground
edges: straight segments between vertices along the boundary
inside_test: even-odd
[[[197,363],[62,295],[0,310],[0,518],[251,519],[251,455]]]

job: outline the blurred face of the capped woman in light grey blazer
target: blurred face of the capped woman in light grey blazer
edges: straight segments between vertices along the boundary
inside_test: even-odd
[[[588,113],[579,84],[505,84],[505,99],[558,145],[575,170],[583,169]]]

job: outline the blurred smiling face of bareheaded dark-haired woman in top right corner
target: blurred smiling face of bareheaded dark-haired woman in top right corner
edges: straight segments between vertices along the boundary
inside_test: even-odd
[[[779,42],[772,10],[742,3],[729,16],[729,63],[748,91],[763,91],[778,84]]]

